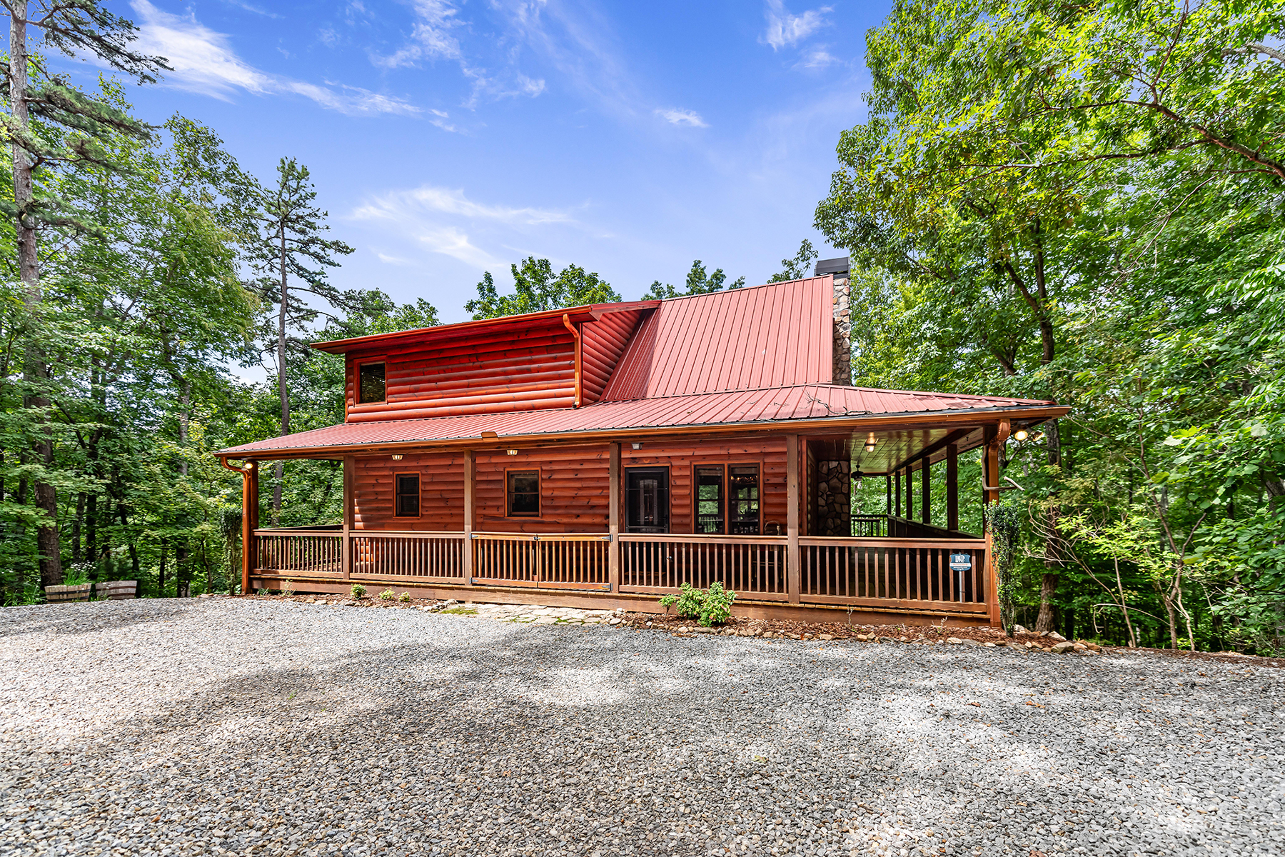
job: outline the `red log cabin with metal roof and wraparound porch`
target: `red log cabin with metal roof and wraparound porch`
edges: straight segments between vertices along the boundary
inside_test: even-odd
[[[344,421],[216,454],[243,477],[242,591],[657,612],[718,581],[741,615],[997,624],[959,456],[982,448],[995,502],[1009,437],[1068,409],[853,387],[848,306],[829,271],[316,343],[344,356]],[[343,463],[342,523],[258,526],[287,459]],[[884,514],[853,515],[870,478]]]

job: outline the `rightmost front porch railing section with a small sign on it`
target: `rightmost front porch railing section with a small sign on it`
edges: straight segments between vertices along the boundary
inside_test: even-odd
[[[959,610],[986,605],[986,541],[799,538],[799,600]],[[966,569],[952,569],[952,559]]]

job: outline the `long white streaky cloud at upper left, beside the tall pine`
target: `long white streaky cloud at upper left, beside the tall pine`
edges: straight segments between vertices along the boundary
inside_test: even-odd
[[[419,113],[409,102],[357,86],[321,86],[260,71],[236,55],[227,36],[194,17],[162,12],[148,0],[134,0],[131,5],[140,22],[136,49],[168,60],[173,71],[166,72],[164,80],[171,86],[224,100],[238,90],[252,95],[294,94],[350,116]]]

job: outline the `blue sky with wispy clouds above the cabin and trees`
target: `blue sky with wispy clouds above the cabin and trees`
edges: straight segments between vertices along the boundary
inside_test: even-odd
[[[803,238],[865,116],[887,6],[801,0],[131,0],[167,57],[153,122],[212,126],[242,164],[312,171],[333,280],[466,319],[484,270],[547,257],[625,298],[694,258],[750,284]]]

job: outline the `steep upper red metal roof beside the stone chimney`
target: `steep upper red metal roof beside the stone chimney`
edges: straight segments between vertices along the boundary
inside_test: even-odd
[[[831,383],[833,288],[817,276],[663,301],[603,401]]]

